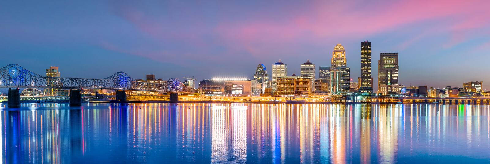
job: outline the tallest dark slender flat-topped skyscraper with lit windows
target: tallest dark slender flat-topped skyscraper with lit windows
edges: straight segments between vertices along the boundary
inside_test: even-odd
[[[371,42],[361,42],[361,81],[359,91],[372,93]]]

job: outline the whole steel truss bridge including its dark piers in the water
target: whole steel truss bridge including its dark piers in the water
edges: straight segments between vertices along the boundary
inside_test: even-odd
[[[44,77],[19,64],[9,64],[0,68],[0,88],[9,88],[7,98],[9,107],[20,106],[19,88],[70,89],[72,106],[81,105],[80,91],[83,89],[116,90],[116,99],[121,102],[126,101],[126,90],[171,93],[171,101],[178,101],[179,93],[193,93],[191,87],[185,86],[177,78],[163,83],[138,82],[124,72],[117,72],[104,79]]]

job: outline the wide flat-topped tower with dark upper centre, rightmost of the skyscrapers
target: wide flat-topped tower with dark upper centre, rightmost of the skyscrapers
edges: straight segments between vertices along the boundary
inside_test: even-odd
[[[380,53],[378,93],[398,94],[398,53]]]

